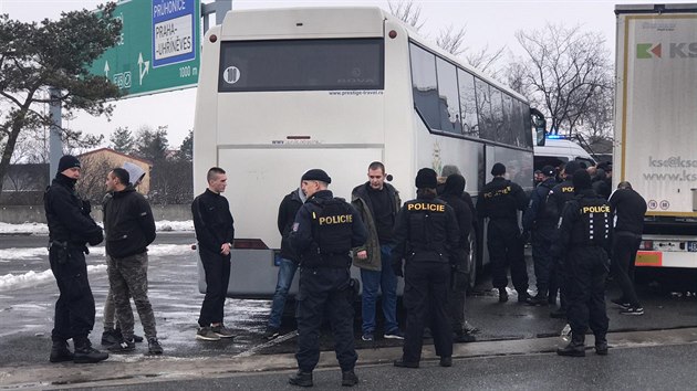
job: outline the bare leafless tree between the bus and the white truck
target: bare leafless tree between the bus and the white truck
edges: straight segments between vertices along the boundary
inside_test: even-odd
[[[612,63],[605,39],[580,27],[548,24],[516,38],[527,53],[508,78],[519,83],[524,95],[547,110],[550,131],[573,135],[584,124],[592,103],[612,91]]]

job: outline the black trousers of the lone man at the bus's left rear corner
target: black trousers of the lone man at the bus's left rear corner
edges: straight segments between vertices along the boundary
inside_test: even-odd
[[[208,327],[222,323],[225,317],[225,298],[230,283],[230,255],[216,254],[204,249],[199,250],[199,254],[206,272],[206,297],[198,325]]]

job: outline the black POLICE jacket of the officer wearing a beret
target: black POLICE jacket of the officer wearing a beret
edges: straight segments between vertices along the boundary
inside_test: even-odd
[[[333,200],[341,201],[343,212],[324,215],[326,220],[320,222],[323,203]],[[367,230],[355,208],[343,199],[334,199],[329,190],[320,190],[305,201],[290,235],[303,267],[350,267],[351,249],[364,245],[366,239]]]

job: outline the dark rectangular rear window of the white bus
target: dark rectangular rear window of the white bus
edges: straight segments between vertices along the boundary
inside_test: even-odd
[[[383,89],[383,39],[227,41],[218,92]]]

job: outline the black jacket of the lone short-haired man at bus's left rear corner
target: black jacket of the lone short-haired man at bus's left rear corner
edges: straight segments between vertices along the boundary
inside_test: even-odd
[[[196,240],[202,250],[220,254],[222,244],[235,240],[235,220],[225,197],[206,189],[194,199],[191,214]]]

